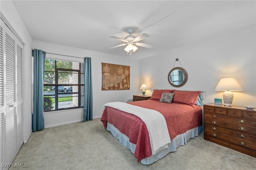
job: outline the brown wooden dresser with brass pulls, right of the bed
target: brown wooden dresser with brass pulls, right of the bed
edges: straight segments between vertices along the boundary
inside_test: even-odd
[[[204,139],[256,157],[256,111],[205,104]]]

